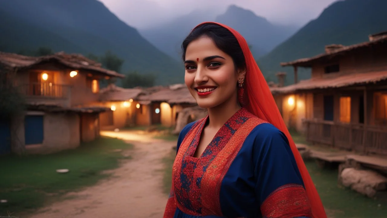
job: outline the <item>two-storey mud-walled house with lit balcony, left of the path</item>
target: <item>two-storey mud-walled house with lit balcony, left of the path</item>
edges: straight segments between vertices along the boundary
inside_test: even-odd
[[[124,77],[79,54],[63,52],[43,57],[0,52],[0,64],[24,95],[26,111],[0,121],[4,153],[50,152],[77,147],[99,137],[99,113],[110,108],[95,106],[99,81]],[[21,149],[22,148],[22,149]]]

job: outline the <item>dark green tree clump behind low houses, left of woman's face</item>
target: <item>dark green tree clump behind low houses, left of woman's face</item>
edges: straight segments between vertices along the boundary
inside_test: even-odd
[[[156,77],[152,74],[139,74],[137,71],[130,72],[126,78],[122,81],[124,88],[134,87],[152,87]]]

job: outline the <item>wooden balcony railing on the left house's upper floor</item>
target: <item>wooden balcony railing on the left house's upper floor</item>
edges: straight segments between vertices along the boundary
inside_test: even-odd
[[[28,97],[48,97],[67,99],[70,95],[69,85],[55,83],[30,83],[20,87],[21,93]]]

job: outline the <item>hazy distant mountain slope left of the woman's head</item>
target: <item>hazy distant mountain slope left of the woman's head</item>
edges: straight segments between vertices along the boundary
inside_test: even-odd
[[[216,15],[211,11],[196,10],[190,14],[177,17],[166,24],[150,29],[139,29],[140,34],[157,48],[181,60],[182,42],[192,28],[205,21],[214,21]]]

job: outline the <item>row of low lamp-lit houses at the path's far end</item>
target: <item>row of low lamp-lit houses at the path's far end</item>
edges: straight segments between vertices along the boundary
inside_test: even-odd
[[[111,109],[99,116],[103,130],[152,125],[173,127],[180,111],[197,105],[184,84],[150,88],[121,88],[111,84],[100,93],[98,105]]]

